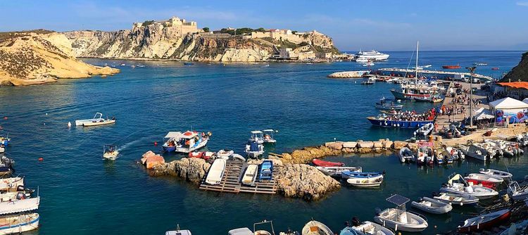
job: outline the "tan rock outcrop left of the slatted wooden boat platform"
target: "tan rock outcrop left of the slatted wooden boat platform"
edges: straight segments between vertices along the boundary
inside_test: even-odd
[[[170,163],[156,165],[149,171],[151,176],[172,175],[194,184],[200,184],[205,177],[210,164],[201,158],[182,158]]]

